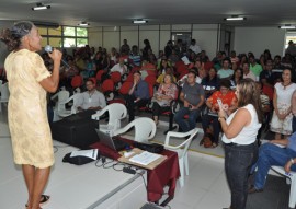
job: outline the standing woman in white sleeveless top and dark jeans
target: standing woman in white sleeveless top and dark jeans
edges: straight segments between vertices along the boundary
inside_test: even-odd
[[[231,193],[231,209],[244,209],[248,196],[248,174],[257,161],[257,135],[262,123],[260,94],[255,82],[243,79],[236,89],[238,109],[227,119],[225,111],[219,111],[219,121],[224,131],[225,172]]]

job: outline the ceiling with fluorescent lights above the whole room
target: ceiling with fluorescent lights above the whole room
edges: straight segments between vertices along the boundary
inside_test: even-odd
[[[37,2],[49,10],[32,11]],[[44,21],[90,26],[130,25],[134,19],[148,24],[226,23],[224,18],[243,15],[246,26],[296,25],[295,0],[1,0],[0,21]],[[230,24],[227,22],[227,24]]]

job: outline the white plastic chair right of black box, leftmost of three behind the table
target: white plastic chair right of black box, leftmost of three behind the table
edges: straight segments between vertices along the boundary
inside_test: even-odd
[[[96,114],[92,115],[92,119],[99,120],[102,115],[109,112],[107,125],[100,125],[99,129],[105,133],[113,136],[113,132],[121,128],[121,120],[126,117],[126,106],[121,103],[112,103],[105,106],[103,109],[98,111]]]

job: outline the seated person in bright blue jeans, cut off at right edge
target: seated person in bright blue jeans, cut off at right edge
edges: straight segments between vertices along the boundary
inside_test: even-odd
[[[281,148],[277,144],[284,146]],[[260,147],[259,159],[254,167],[258,167],[254,177],[254,185],[249,189],[249,194],[263,191],[266,177],[271,166],[283,166],[288,173],[296,172],[296,132],[287,139],[274,139]]]

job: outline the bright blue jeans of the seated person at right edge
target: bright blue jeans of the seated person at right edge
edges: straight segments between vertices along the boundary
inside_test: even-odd
[[[255,164],[258,171],[255,173],[254,187],[263,189],[271,166],[285,166],[286,162],[292,158],[296,158],[296,152],[291,149],[280,148],[272,143],[261,146]],[[291,170],[296,171],[296,165],[291,166]]]

